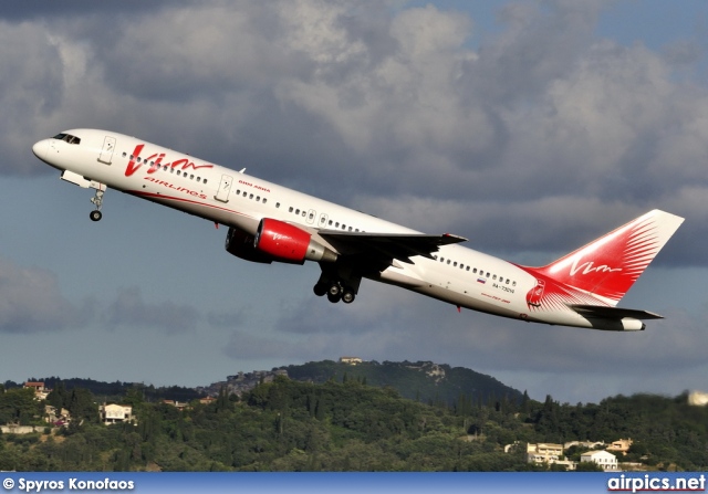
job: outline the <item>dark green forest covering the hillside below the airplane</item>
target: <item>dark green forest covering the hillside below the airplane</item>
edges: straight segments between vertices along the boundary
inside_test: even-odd
[[[4,391],[4,392],[2,392]],[[222,389],[184,410],[150,402],[139,387],[119,402],[135,423],[104,425],[93,393],[61,382],[46,399],[70,410],[61,428],[43,421],[31,390],[0,389],[0,423],[39,425],[0,434],[6,471],[528,471],[525,444],[632,438],[621,462],[646,470],[708,470],[708,408],[686,396],[607,398],[597,404],[500,397],[482,402],[403,398],[361,378],[322,383],[279,377],[241,397]],[[504,445],[513,444],[509,452]],[[573,448],[571,460],[582,450]],[[582,463],[581,463],[582,465]],[[594,465],[584,465],[592,469]]]

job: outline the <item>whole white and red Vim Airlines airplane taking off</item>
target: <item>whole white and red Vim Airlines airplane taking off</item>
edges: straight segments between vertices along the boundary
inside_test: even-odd
[[[228,227],[226,250],[267,263],[319,263],[317,296],[350,304],[362,278],[523,322],[644,330],[658,314],[617,307],[684,218],[653,210],[561,259],[530,267],[424,234],[127,135],[62,132],[33,145],[61,178],[94,189],[102,218],[112,188]]]

